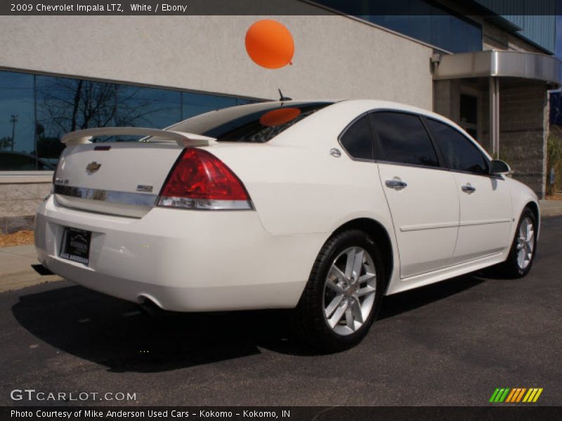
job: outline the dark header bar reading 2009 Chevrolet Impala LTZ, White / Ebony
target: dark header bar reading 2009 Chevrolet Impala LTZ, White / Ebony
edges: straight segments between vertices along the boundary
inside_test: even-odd
[[[2,0],[0,15],[326,15],[330,8],[348,15],[426,15],[437,0]],[[556,15],[558,0],[463,0],[458,13],[467,15]],[[447,12],[443,4],[443,13]],[[492,5],[493,11],[484,5]],[[456,8],[456,7],[455,7]],[[461,10],[462,9],[462,10]],[[431,14],[440,13],[435,8]]]

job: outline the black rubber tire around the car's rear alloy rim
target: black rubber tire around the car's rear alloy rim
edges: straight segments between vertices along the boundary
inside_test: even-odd
[[[374,274],[376,275],[376,283],[374,280],[371,282],[376,286],[374,286],[374,300],[372,301],[373,304],[370,308],[370,314],[363,320],[362,326],[353,331],[353,333],[341,335],[334,332],[334,329],[328,325],[327,318],[325,317],[325,298],[329,293],[327,291],[330,289],[328,288],[325,290],[325,288],[332,263],[335,262],[336,258],[338,258],[341,253],[350,248],[362,248],[370,256],[374,264]],[[369,263],[362,264],[361,271],[364,271],[366,268],[363,265],[370,267]],[[371,236],[368,236],[365,232],[358,229],[350,229],[332,236],[326,241],[322,250],[320,250],[318,258],[316,258],[314,262],[306,288],[294,311],[296,328],[301,339],[320,352],[339,352],[357,345],[369,331],[381,307],[381,299],[384,292],[384,277],[385,271],[381,253],[377,248],[377,243]],[[360,292],[357,288],[361,288],[361,286],[359,286],[358,283],[356,285],[355,291]],[[362,283],[362,286],[367,286],[367,284]],[[365,299],[366,298],[363,298],[363,300]],[[360,305],[360,301],[353,302],[354,298],[346,298],[345,300],[349,300],[349,302],[352,303],[349,305],[350,308],[353,307],[353,305]],[[337,328],[340,328],[339,324]],[[344,326],[341,328],[345,329],[346,327]]]

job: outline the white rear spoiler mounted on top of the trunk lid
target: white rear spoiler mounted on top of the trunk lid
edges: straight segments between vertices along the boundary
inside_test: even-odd
[[[100,127],[86,128],[84,130],[73,131],[67,133],[60,142],[67,146],[84,145],[90,143],[94,136],[119,136],[119,135],[141,135],[146,137],[155,137],[154,143],[176,142],[178,146],[207,146],[209,142],[216,141],[215,138],[207,136],[195,135],[194,133],[183,133],[178,131],[159,130],[157,128],[144,127]],[[150,140],[141,140],[150,142]]]

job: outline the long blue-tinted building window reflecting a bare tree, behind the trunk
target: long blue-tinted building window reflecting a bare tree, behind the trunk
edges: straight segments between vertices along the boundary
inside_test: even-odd
[[[70,131],[164,128],[249,102],[259,100],[0,71],[0,171],[52,171]]]

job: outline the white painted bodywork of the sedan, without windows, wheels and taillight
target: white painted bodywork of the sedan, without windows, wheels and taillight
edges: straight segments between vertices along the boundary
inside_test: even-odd
[[[53,195],[37,213],[39,260],[88,288],[131,301],[150,298],[176,311],[295,307],[322,245],[358,219],[376,222],[388,235],[393,267],[386,294],[505,260],[521,211],[528,203],[538,208],[535,194],[504,176],[493,188],[487,176],[351,159],[338,136],[373,109],[419,113],[462,131],[415,107],[336,102],[265,144],[201,146],[242,180],[255,210],[128,207]],[[166,142],[99,145],[111,150],[67,147],[57,178],[142,199],[138,185],[152,186],[157,195],[183,150]],[[339,158],[332,148],[341,150]],[[93,176],[84,170],[92,161],[101,163]],[[384,180],[394,177],[403,178],[407,189],[386,188]],[[474,194],[459,192],[466,182],[476,187]],[[63,227],[93,232],[89,267],[58,256]]]

